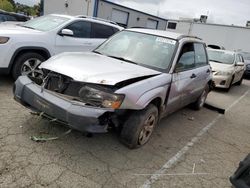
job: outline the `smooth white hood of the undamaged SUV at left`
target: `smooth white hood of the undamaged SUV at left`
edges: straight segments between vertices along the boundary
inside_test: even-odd
[[[41,31],[21,27],[15,24],[0,24],[0,35],[7,35],[7,36],[12,35],[12,34],[30,35],[33,33],[41,33]]]

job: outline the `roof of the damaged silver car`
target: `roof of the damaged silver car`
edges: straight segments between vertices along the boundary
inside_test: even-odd
[[[175,39],[175,40],[180,40],[182,38],[187,38],[187,37],[201,40],[200,38],[195,37],[195,36],[189,36],[189,35],[184,35],[184,34],[180,34],[180,33],[164,31],[164,30],[147,29],[147,28],[129,28],[129,29],[126,29],[126,30],[141,32],[141,33],[151,34],[151,35],[158,35],[158,36],[161,36],[161,37],[167,37],[167,38],[171,38],[171,39]]]

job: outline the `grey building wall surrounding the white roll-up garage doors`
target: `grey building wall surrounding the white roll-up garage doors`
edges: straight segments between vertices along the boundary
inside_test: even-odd
[[[150,16],[148,14],[144,14],[135,10],[131,10],[129,8],[117,6],[111,3],[107,3],[105,1],[99,1],[98,4],[98,12],[97,17],[112,20],[112,10],[120,10],[129,13],[129,18],[127,22],[127,27],[146,27],[148,19],[158,21],[157,29],[165,30],[167,20],[159,19],[154,16]]]

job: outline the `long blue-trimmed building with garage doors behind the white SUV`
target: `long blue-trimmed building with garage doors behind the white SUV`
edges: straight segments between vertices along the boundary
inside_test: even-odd
[[[88,15],[117,22],[124,27],[165,30],[167,20],[107,0],[42,0],[43,14]]]

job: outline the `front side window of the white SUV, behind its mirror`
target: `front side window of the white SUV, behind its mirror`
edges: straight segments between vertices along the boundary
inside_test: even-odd
[[[74,22],[67,26],[65,29],[70,29],[73,31],[73,37],[76,38],[90,38],[91,33],[91,23],[85,21]]]

